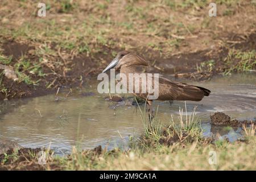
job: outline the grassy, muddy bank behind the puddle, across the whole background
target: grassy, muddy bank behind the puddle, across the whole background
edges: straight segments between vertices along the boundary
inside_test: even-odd
[[[144,57],[145,71],[174,77],[255,72],[256,6],[250,1],[218,3],[214,18],[208,2],[46,4],[48,14],[40,18],[30,0],[0,3],[0,64],[17,77],[1,73],[1,100],[82,86],[123,49]]]

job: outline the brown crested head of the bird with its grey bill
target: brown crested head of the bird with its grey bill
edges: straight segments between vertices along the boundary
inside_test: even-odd
[[[142,57],[135,55],[134,53],[129,51],[121,51],[117,53],[117,56],[115,56],[115,58],[109,63],[108,67],[102,71],[102,73],[105,73],[112,68],[119,69],[122,66],[129,67],[134,65],[147,66],[148,64],[144,59],[142,59]]]

